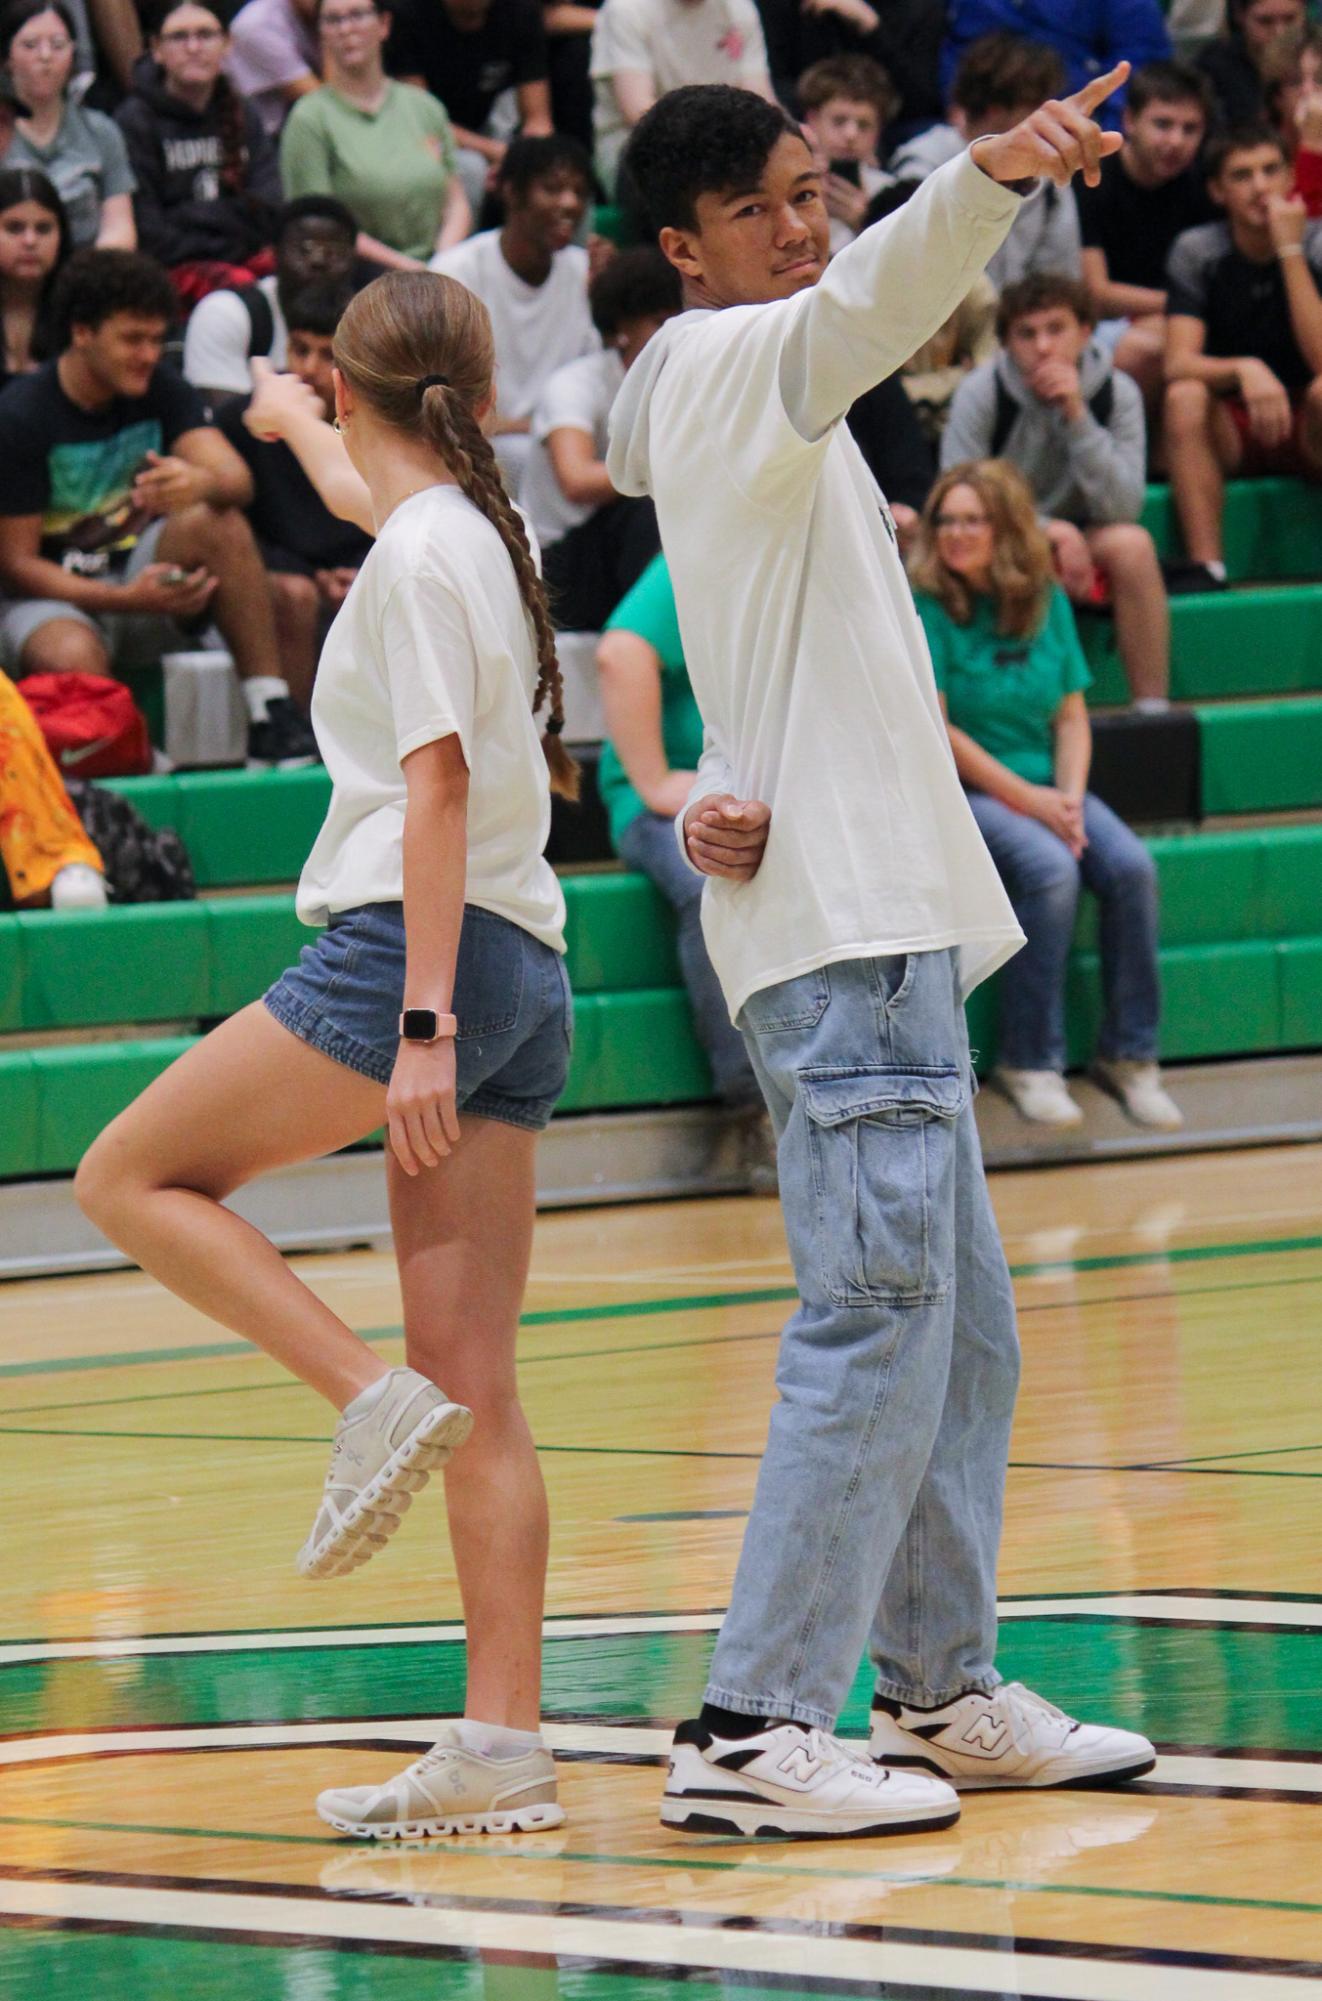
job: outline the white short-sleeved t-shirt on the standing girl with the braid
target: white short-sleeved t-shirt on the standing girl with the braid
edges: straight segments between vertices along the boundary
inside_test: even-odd
[[[458,486],[400,502],[326,634],[312,726],[330,810],[298,882],[298,916],[404,894],[410,750],[460,738],[468,902],[564,950],[564,896],[544,856],[550,782],[532,694],[538,664],[500,534]]]

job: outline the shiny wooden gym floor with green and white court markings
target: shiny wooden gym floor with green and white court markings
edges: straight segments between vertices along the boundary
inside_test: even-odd
[[[524,1387],[568,1823],[514,1841],[374,1851],[312,1811],[460,1701],[440,1485],[366,1571],[302,1583],[326,1407],[136,1273],[0,1287],[0,1995],[1322,1985],[1320,1195],[1308,1147],[996,1177],[1026,1357],[1002,1667],[1162,1759],[886,1841],[656,1821],[766,1429],[772,1203],[540,1221]],[[298,1269],[398,1353],[386,1257]]]

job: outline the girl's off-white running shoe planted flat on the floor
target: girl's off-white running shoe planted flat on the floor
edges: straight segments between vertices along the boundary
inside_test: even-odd
[[[518,1757],[484,1757],[462,1745],[454,1729],[384,1785],[318,1793],[316,1811],[342,1835],[366,1841],[514,1835],[564,1821],[550,1751],[538,1747]]]

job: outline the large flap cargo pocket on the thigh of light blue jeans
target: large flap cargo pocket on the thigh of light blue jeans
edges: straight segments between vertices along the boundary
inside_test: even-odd
[[[954,1067],[798,1073],[818,1203],[822,1285],[838,1307],[942,1299],[954,1271]]]

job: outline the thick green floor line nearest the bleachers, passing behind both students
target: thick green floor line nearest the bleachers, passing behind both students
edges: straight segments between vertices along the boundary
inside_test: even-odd
[[[1116,1257],[1056,1259],[1040,1265],[1012,1265],[1012,1279],[1064,1279],[1070,1273],[1088,1271],[1132,1271],[1144,1265],[1190,1265],[1206,1259],[1288,1255],[1298,1251],[1322,1251],[1322,1237],[1280,1237],[1254,1239],[1234,1245],[1182,1245],[1174,1251],[1126,1251]],[[1304,1281],[1312,1283],[1312,1281]],[[1246,1287],[1252,1289],[1252,1287]],[[1216,1289],[1220,1291],[1220,1289]],[[756,1287],[744,1293],[686,1293],[672,1299],[624,1299],[598,1307],[550,1307],[520,1317],[520,1327],[564,1327],[584,1321],[626,1321],[656,1313],[706,1313],[716,1307],[756,1307],[786,1305],[798,1299],[790,1285]],[[1086,1301],[1086,1305],[1096,1305]],[[372,1327],[362,1333],[364,1341],[398,1341],[400,1327]],[[680,1345],[680,1343],[676,1343]],[[596,1357],[600,1349],[584,1351]],[[616,1351],[612,1351],[616,1353]],[[622,1351],[620,1351],[622,1353]],[[248,1341],[208,1341],[194,1349],[126,1349],[114,1355],[62,1355],[32,1363],[0,1363],[0,1379],[26,1375],[66,1375],[86,1369],[130,1369],[150,1363],[210,1361],[224,1355],[252,1355]],[[574,1361],[574,1355],[540,1357],[542,1361]]]

